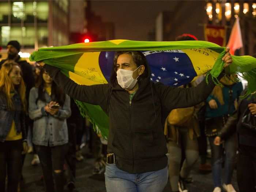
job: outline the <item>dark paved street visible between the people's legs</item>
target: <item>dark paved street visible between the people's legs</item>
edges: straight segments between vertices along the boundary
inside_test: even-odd
[[[44,192],[43,181],[40,180],[42,171],[40,166],[30,165],[33,155],[28,154],[26,157],[23,176],[25,178],[21,192]],[[92,175],[94,159],[84,159],[82,162],[77,162],[77,178],[76,189],[74,192],[106,192],[104,183],[104,174]],[[199,174],[197,172],[198,163],[192,170],[192,177],[194,182],[188,185],[189,192],[212,192],[212,178],[211,173]],[[233,181],[236,181],[236,171],[234,172]],[[237,189],[237,183],[234,183]],[[65,188],[66,189],[66,188]],[[68,192],[66,189],[65,192]],[[163,192],[171,192],[170,184],[165,187]],[[237,190],[238,192],[238,190]]]

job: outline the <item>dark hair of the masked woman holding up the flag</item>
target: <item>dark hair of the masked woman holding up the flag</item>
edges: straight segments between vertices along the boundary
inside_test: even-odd
[[[145,79],[148,76],[148,64],[147,64],[147,59],[144,56],[144,54],[140,51],[117,51],[114,56],[114,64],[110,76],[110,83],[115,83],[116,82],[116,71],[117,71],[117,58],[121,54],[130,54],[132,56],[133,62],[136,64],[137,67],[140,65],[145,66],[145,70],[142,75],[139,76],[138,80],[140,81],[141,79]]]

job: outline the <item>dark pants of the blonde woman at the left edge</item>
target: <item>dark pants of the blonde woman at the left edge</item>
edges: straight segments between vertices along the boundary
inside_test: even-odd
[[[22,140],[0,142],[0,191],[5,191],[5,177],[8,175],[7,192],[17,192],[21,172]],[[7,171],[6,171],[7,170]]]

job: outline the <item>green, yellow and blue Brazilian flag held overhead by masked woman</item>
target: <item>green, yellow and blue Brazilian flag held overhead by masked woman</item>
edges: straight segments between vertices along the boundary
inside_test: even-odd
[[[78,84],[93,85],[110,82],[114,52],[139,50],[148,61],[151,81],[169,86],[180,86],[197,76],[211,74],[217,77],[223,69],[225,48],[206,41],[129,41],[111,40],[80,43],[67,46],[40,48],[30,61],[43,61],[61,69]],[[256,91],[256,59],[251,56],[232,56],[229,74],[242,73],[248,80],[248,94]],[[207,79],[207,78],[206,78]],[[108,137],[109,118],[99,106],[76,101],[81,114],[89,117],[94,127]]]

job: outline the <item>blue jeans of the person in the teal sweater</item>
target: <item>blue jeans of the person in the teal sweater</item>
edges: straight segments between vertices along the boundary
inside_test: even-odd
[[[208,139],[211,146],[211,164],[214,187],[221,187],[221,164],[223,154],[222,144],[219,146],[214,145],[213,141],[215,137],[209,137]],[[224,183],[231,184],[234,170],[234,160],[236,158],[237,151],[236,134],[231,135],[228,139],[225,140],[224,148],[226,153]]]

